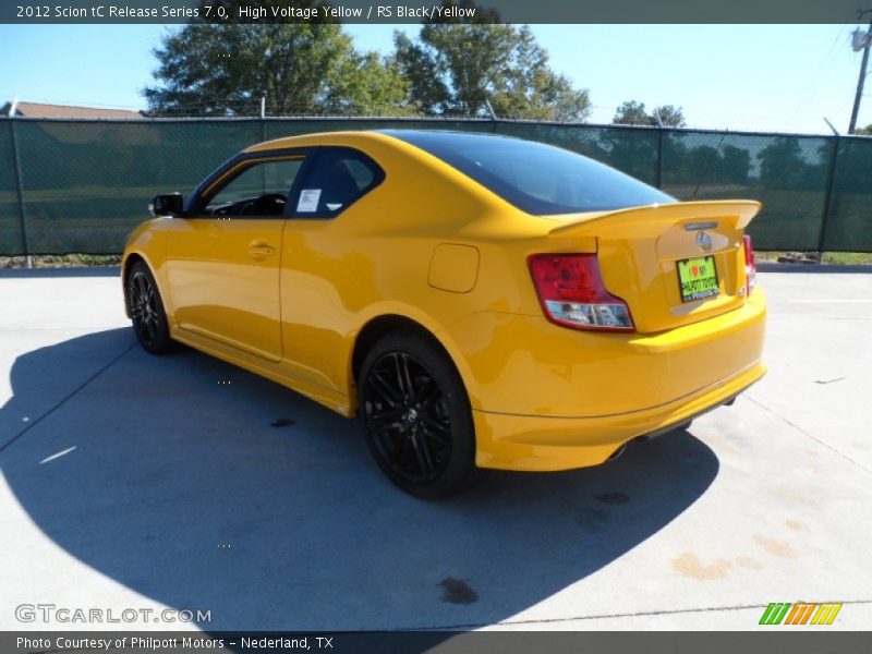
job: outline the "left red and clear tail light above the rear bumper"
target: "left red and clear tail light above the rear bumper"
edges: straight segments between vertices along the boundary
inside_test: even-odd
[[[633,330],[627,303],[603,286],[595,254],[535,254],[528,264],[552,323],[574,329]]]

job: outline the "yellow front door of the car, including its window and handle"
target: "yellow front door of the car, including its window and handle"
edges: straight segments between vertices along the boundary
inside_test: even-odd
[[[282,359],[282,230],[302,153],[244,157],[207,181],[173,221],[167,276],[178,327]]]

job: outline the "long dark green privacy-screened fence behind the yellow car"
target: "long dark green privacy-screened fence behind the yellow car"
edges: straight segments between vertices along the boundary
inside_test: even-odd
[[[157,193],[187,193],[259,141],[382,128],[566,147],[679,199],[753,198],[759,250],[872,252],[872,138],[504,120],[0,119],[0,255],[116,254]]]

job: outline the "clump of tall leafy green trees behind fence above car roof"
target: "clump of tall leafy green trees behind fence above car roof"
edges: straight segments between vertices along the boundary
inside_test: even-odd
[[[206,2],[201,4],[201,15]],[[240,7],[312,0],[210,0],[228,15]],[[444,0],[445,5],[455,4]],[[471,0],[461,7],[473,8]],[[529,27],[498,24],[476,8],[461,23],[427,23],[413,40],[395,35],[396,51],[380,58],[355,51],[342,27],[325,19],[303,23],[227,24],[216,17],[168,34],[155,50],[159,84],[144,89],[154,116],[487,116],[489,101],[505,118],[582,121],[586,90],[548,65]]]

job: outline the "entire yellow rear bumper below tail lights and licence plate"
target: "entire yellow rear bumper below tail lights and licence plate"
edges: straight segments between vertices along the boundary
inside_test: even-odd
[[[729,401],[766,372],[765,315],[759,288],[740,308],[654,335],[580,332],[496,313],[449,326],[463,355],[476,463],[596,465],[628,440]]]

